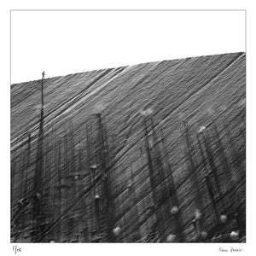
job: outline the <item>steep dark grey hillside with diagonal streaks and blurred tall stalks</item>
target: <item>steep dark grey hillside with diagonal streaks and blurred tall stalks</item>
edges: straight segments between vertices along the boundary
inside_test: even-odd
[[[13,240],[244,235],[245,61],[209,55],[12,84]]]

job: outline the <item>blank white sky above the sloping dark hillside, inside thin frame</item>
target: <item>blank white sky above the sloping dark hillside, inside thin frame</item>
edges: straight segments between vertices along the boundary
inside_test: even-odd
[[[244,11],[12,11],[11,83],[245,51]]]

